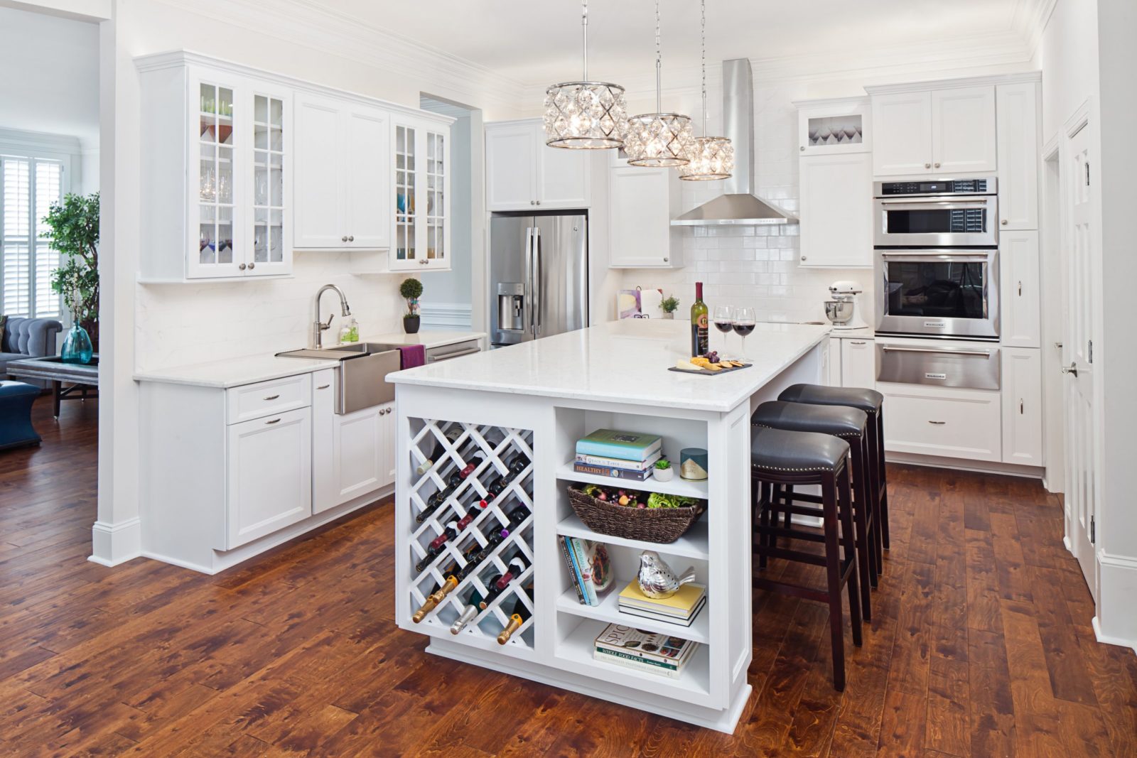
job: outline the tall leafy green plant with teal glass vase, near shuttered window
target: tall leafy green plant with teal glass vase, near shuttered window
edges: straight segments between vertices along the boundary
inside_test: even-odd
[[[67,194],[43,217],[64,264],[51,273],[51,289],[72,315],[64,340],[64,360],[90,363],[99,350],[99,193]]]

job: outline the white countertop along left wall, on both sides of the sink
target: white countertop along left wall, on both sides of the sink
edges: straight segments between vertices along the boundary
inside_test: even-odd
[[[422,344],[426,348],[441,348],[466,340],[480,340],[484,332],[420,332],[418,334],[365,334],[360,342],[381,342],[384,344]],[[304,345],[296,345],[301,348]],[[309,360],[307,358],[277,358],[276,356],[257,355],[229,360],[214,360],[190,366],[175,366],[152,372],[134,374],[139,382],[165,382],[167,384],[191,384],[226,389],[267,382],[284,376],[310,374],[322,368],[334,368],[338,360]]]

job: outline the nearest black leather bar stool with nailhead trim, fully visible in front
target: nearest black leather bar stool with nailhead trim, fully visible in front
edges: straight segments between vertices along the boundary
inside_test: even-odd
[[[750,430],[750,477],[760,572],[767,558],[783,558],[825,567],[825,589],[791,582],[752,577],[760,590],[829,605],[829,633],[833,647],[833,688],[845,689],[845,630],[841,588],[848,588],[853,644],[861,647],[861,603],[857,599],[856,550],[853,545],[853,503],[849,486],[849,445],[841,439],[811,432],[785,432],[767,427]],[[822,534],[786,528],[771,523],[775,485],[821,485]],[[774,540],[790,538],[823,542],[824,556],[778,547]]]

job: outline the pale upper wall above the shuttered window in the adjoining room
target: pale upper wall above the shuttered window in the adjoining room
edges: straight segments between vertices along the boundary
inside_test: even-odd
[[[99,149],[99,27],[0,8],[0,127]]]

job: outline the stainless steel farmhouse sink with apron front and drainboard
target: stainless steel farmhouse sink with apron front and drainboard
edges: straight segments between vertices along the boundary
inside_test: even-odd
[[[305,348],[277,352],[279,358],[338,360],[335,413],[350,414],[395,400],[395,385],[387,375],[399,370],[400,352],[395,344],[356,342],[334,348]]]

